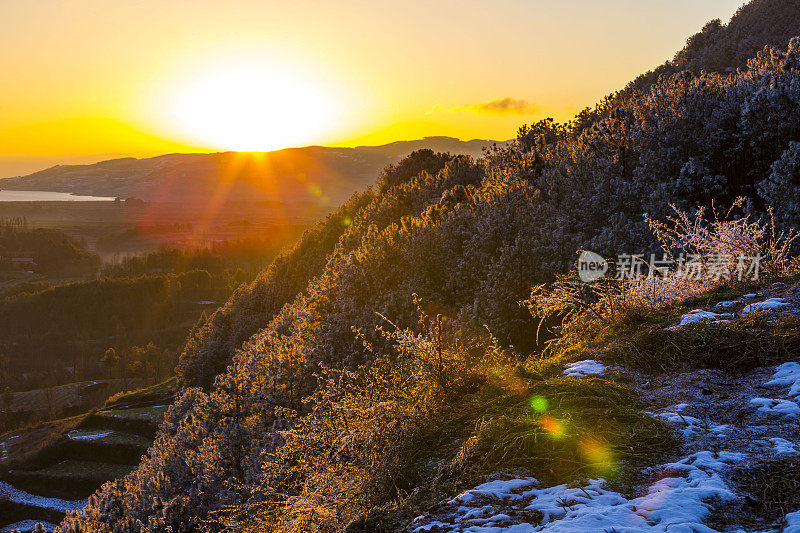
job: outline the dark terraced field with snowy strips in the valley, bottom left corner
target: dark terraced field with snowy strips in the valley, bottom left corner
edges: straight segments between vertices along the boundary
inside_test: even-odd
[[[174,381],[102,410],[0,436],[0,532],[48,530],[103,483],[139,463],[174,397]]]

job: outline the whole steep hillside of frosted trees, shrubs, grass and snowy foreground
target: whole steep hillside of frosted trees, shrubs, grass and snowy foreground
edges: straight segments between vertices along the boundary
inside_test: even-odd
[[[726,507],[762,494],[758,472],[778,466],[774,454],[711,436],[793,413],[793,389],[742,389],[735,402],[752,410],[707,420],[702,398],[775,372],[789,386],[790,367],[777,365],[798,357],[796,280],[770,285],[796,276],[793,237],[770,240],[777,234],[758,217],[771,205],[778,229],[800,219],[800,39],[745,72],[661,79],[602,116],[580,129],[523,127],[484,160],[426,152],[387,169],[195,331],[179,369],[202,388],[185,389],[139,468],[62,530],[792,523],[797,502],[778,493],[760,496],[758,513]],[[715,213],[739,206],[755,218],[681,218],[712,202]],[[676,233],[642,217],[666,221],[673,209]],[[733,247],[729,235],[739,236]],[[562,281],[553,287],[567,292],[537,296],[579,249],[610,257],[675,243],[704,261],[723,251],[770,259],[757,284],[678,278],[568,292]],[[735,314],[679,326],[684,313],[687,323],[711,318],[722,301]],[[540,317],[542,306],[556,314]],[[581,321],[553,329],[565,311]],[[543,351],[548,339],[558,341]],[[675,390],[661,385],[676,378]],[[701,426],[708,438],[684,440]],[[788,449],[797,435],[752,438]],[[734,466],[752,489],[732,479]],[[796,486],[793,467],[780,468]],[[482,484],[491,479],[505,481]],[[524,506],[503,514],[503,499]],[[470,509],[483,522],[454,523]]]

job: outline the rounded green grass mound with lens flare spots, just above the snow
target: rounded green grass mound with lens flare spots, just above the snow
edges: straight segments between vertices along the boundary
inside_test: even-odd
[[[507,468],[529,470],[547,484],[609,479],[676,445],[661,422],[640,412],[633,390],[597,378],[559,377],[488,405],[451,468],[473,479]]]

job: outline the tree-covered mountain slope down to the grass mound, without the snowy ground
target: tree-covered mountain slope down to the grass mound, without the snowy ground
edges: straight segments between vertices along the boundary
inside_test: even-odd
[[[313,233],[301,243],[325,254],[315,259],[324,266],[304,272],[307,284],[279,310],[259,315],[269,322],[233,323],[255,316],[248,300],[258,305],[264,287],[279,282],[266,276],[230,302],[241,314],[223,313],[209,326],[211,337],[260,327],[241,347],[239,336],[223,331],[215,338],[227,344],[204,353],[211,337],[193,337],[198,348],[184,354],[186,368],[211,370],[192,384],[207,385],[230,358],[227,369],[206,390],[187,389],[139,468],[62,530],[414,530],[410,520],[433,502],[509,469],[545,486],[616,472],[617,482],[635,485],[631,491],[645,488],[639,467],[676,457],[669,421],[643,411],[642,391],[625,379],[564,376],[565,363],[614,354],[596,353],[595,339],[541,354],[541,323],[519,302],[567,271],[579,249],[606,257],[656,252],[642,215],[663,220],[670,203],[724,209],[743,195],[755,215],[776,205],[779,228],[796,224],[798,124],[800,39],[793,39],[785,53],[759,54],[746,72],[661,79],[588,127],[542,121],[485,160],[456,157],[439,170],[384,177],[369,202],[354,200],[352,219],[329,219],[331,241],[333,226],[349,222],[332,250]],[[403,168],[419,165],[394,170]],[[623,327],[636,335],[653,317],[634,319]],[[636,345],[633,356],[664,356],[644,361],[651,366],[706,364],[698,354],[712,352],[702,343],[669,351],[671,335],[684,333],[664,325],[646,332],[663,342]],[[764,338],[748,335],[741,349],[729,349],[763,364],[753,347]],[[798,355],[794,341],[791,350],[768,346],[777,346],[770,357]],[[718,361],[728,359],[722,352]],[[713,452],[690,459],[703,472],[685,461],[665,471],[721,475],[724,461]],[[681,488],[682,479],[656,488]],[[720,487],[705,497],[720,496]],[[606,496],[621,503],[615,492]],[[564,514],[577,505],[558,496]],[[703,497],[692,501],[706,505]],[[531,509],[522,519],[543,514]]]

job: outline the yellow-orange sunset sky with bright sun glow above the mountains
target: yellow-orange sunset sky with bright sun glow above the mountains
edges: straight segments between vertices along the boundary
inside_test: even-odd
[[[170,152],[512,138],[743,0],[0,0],[0,177]]]

